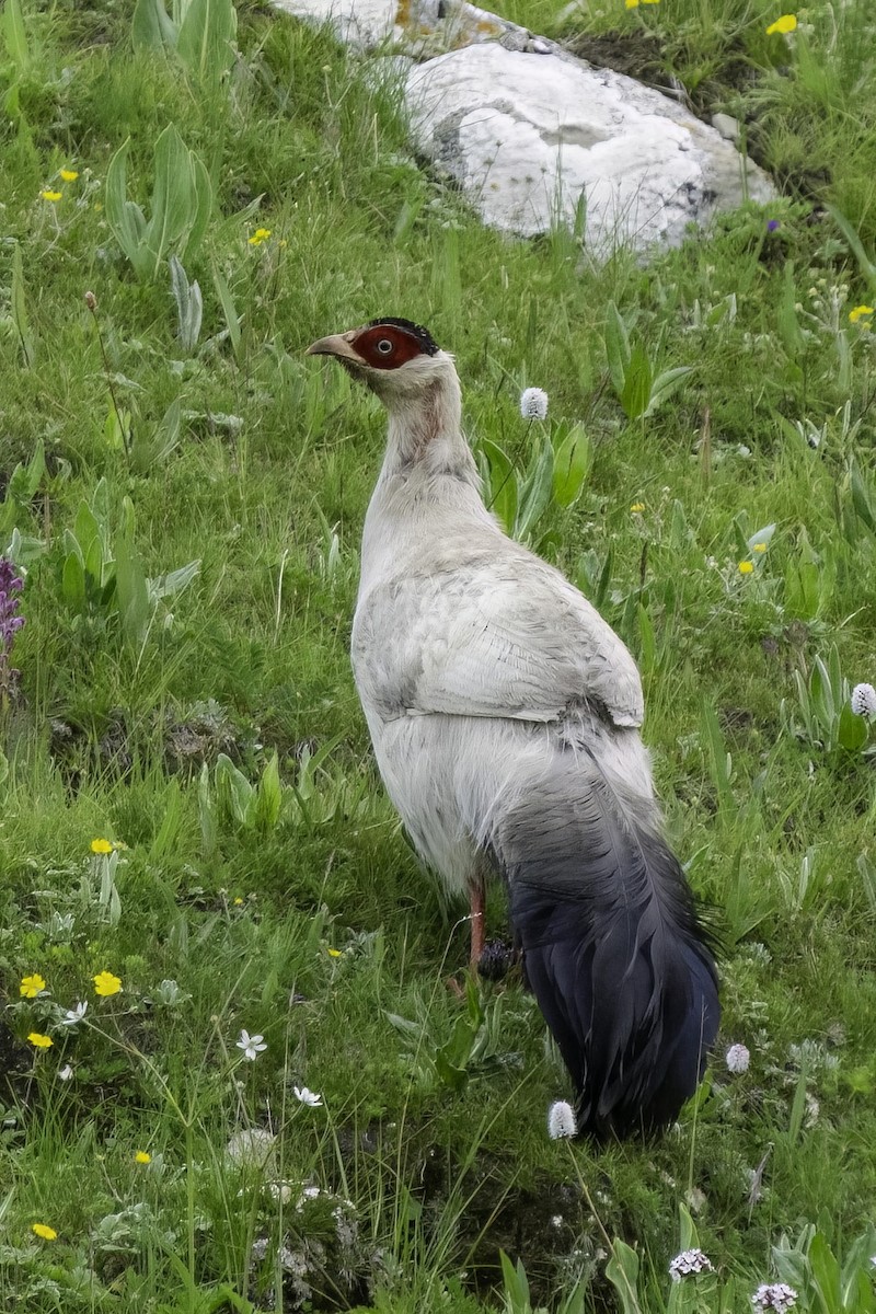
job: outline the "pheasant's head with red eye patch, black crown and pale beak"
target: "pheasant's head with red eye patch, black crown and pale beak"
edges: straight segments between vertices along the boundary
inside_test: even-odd
[[[456,373],[453,357],[410,319],[372,319],[361,328],[320,338],[307,355],[334,356],[390,410],[424,396],[448,372]]]

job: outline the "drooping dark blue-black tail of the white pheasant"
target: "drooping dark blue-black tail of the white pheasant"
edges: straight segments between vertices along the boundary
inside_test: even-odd
[[[647,1133],[697,1087],[714,959],[650,800],[569,750],[494,836],[524,968],[578,1091],[578,1130]]]

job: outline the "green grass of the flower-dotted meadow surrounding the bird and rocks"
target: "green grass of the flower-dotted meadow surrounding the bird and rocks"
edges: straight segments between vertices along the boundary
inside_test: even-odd
[[[634,1267],[623,1243],[629,1314],[750,1309],[772,1277],[841,1307],[825,1247],[854,1267],[876,1196],[876,759],[841,719],[843,679],[876,677],[875,340],[848,318],[876,294],[876,34],[867,7],[834,7],[835,30],[809,8],[796,45],[764,35],[779,9],[753,0],[566,21],[624,41],[646,25],[655,64],[750,118],[783,179],[768,212],[647,269],[483,231],[416,168],[393,95],[286,17],[242,7],[215,84],[134,51],[127,3],[26,5],[24,45],[4,20],[0,549],[17,530],[28,576],[0,712],[0,1309],[523,1309],[507,1280],[499,1294],[500,1250],[533,1305],[583,1280],[605,1309]],[[544,7],[515,16],[549,26]],[[130,138],[148,214],[169,122],[213,193],[183,255],[193,350],[167,263],[138,279],[108,222],[114,152]],[[79,177],[41,198],[62,168]],[[647,418],[619,405],[612,304],[655,369],[692,367]],[[381,792],[348,662],[383,414],[302,355],[377,314],[454,351],[475,448],[523,469],[553,423],[590,438],[580,498],[552,501],[531,540],[640,661],[670,832],[724,946],[713,1071],[654,1144],[548,1141],[569,1088],[535,1003],[445,987],[465,909]],[[527,385],[550,396],[544,426],[520,419]],[[179,440],[152,457],[177,401]],[[7,494],[39,444],[33,495],[21,473]],[[83,502],[104,582],[116,561],[127,593],[92,581],[80,603]],[[148,603],[144,578],[193,561]],[[96,837],[126,848],[95,855]],[[498,891],[490,921],[504,933]],[[101,1000],[104,970],[122,991]],[[34,972],[49,993],[22,999]],[[256,1062],[242,1029],[264,1035]],[[725,1070],[732,1042],[745,1075]],[[277,1135],[263,1167],[227,1156],[250,1127]],[[682,1205],[718,1269],[699,1297],[670,1290]],[[843,1307],[871,1309],[868,1282]]]

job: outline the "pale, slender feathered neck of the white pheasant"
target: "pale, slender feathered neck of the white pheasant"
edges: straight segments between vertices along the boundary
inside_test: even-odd
[[[478,486],[474,457],[462,435],[460,382],[452,368],[422,392],[393,398],[390,405],[381,481],[414,468]]]

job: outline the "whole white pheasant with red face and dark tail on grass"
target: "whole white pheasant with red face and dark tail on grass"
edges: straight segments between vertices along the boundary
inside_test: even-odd
[[[356,686],[419,853],[471,900],[507,883],[582,1134],[647,1133],[693,1093],[720,1008],[707,937],[662,833],[638,671],[481,495],[453,357],[407,319],[322,338],[389,411],[365,516]]]

